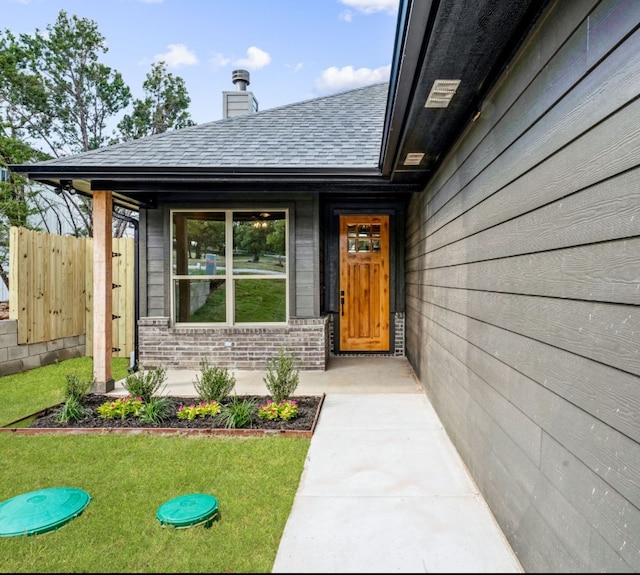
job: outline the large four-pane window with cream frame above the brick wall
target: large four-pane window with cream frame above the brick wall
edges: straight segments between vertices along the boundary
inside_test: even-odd
[[[177,323],[287,321],[286,211],[173,211]]]

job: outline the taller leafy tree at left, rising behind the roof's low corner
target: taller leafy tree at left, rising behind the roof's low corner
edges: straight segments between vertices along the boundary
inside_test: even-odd
[[[0,123],[50,157],[106,145],[107,121],[131,93],[120,73],[98,61],[108,50],[105,38],[95,22],[64,10],[46,30],[0,34]],[[88,198],[63,190],[50,203],[75,223],[75,235],[91,235]]]

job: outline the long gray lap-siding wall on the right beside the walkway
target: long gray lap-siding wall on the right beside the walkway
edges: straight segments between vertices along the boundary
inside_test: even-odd
[[[527,572],[640,571],[640,3],[555,2],[412,198],[407,355]]]

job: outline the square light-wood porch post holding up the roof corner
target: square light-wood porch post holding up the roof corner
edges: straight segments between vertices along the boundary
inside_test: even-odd
[[[111,192],[93,193],[93,376],[95,391],[113,390]]]

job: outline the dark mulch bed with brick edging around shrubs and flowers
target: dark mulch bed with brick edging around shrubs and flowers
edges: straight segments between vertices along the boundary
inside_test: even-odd
[[[105,419],[98,415],[96,408],[103,403],[116,399],[113,396],[89,394],[86,397],[85,406],[91,409],[91,415],[83,419],[71,423],[56,423],[55,418],[58,408],[50,408],[41,413],[29,427],[12,427],[11,431],[21,433],[36,432],[72,432],[72,433],[88,433],[88,432],[148,432],[148,433],[183,433],[183,434],[230,434],[230,435],[260,435],[260,434],[301,434],[311,436],[315,428],[317,419],[320,415],[320,409],[324,401],[323,395],[294,396],[298,403],[298,416],[289,421],[270,421],[260,419],[254,413],[251,424],[240,429],[228,429],[221,425],[216,425],[214,418],[196,418],[193,420],[179,419],[175,412],[180,405],[192,405],[199,403],[197,397],[174,397],[175,409],[172,410],[173,415],[165,419],[160,425],[141,423],[135,417],[127,417],[125,419]],[[258,405],[267,403],[271,399],[270,396],[264,395],[243,395],[237,396],[236,399],[250,399]],[[225,403],[225,402],[222,402]],[[7,429],[7,428],[5,428]]]

